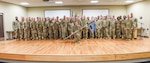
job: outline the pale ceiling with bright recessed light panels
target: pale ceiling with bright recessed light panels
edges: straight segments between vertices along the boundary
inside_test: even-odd
[[[52,0],[51,2],[44,2],[43,0],[0,0],[3,2],[21,5],[21,2],[28,2],[29,5],[22,5],[25,7],[39,7],[39,6],[75,6],[75,5],[128,5],[142,0],[134,0],[132,3],[126,3],[126,0],[98,0],[98,3],[90,3],[91,0]],[[55,1],[63,1],[63,4],[55,4]]]

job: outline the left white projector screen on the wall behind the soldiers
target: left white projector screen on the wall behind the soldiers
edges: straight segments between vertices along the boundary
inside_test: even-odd
[[[70,17],[71,11],[70,10],[45,10],[45,17],[59,17],[63,18],[63,16]]]

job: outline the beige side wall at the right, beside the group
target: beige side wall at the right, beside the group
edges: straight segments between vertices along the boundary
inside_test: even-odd
[[[134,17],[136,17],[139,21],[139,27],[141,27],[141,23],[144,23],[144,28],[150,28],[150,0],[145,0],[142,2],[138,2],[132,5],[127,6],[127,13],[133,13]],[[140,17],[143,17],[140,20]]]

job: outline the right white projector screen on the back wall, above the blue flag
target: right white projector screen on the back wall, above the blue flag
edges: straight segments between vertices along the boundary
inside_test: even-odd
[[[97,16],[106,16],[109,15],[109,10],[108,9],[83,9],[83,16],[86,17],[97,17]]]

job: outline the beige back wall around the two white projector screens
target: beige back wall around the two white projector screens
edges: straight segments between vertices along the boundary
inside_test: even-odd
[[[59,6],[59,7],[33,7],[28,8],[28,16],[30,17],[44,17],[44,10],[56,9],[70,9],[73,14],[82,15],[82,9],[109,9],[110,15],[126,15],[126,6]]]

